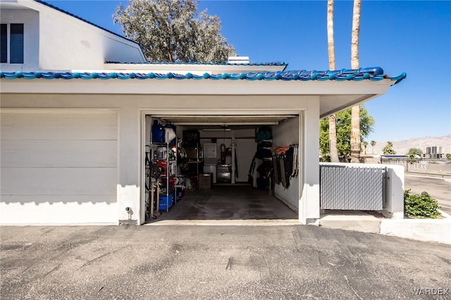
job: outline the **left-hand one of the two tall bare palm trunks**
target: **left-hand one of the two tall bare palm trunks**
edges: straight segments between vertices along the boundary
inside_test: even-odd
[[[329,53],[329,70],[335,70],[335,43],[333,40],[333,1],[327,0],[327,48]],[[338,163],[337,151],[337,118],[329,116],[329,154],[330,161]]]

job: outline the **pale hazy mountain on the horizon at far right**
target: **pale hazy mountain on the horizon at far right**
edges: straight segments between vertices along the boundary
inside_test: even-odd
[[[451,135],[445,135],[444,137],[416,137],[414,139],[406,139],[404,141],[390,141],[393,142],[393,150],[396,154],[407,154],[411,148],[419,148],[423,153],[426,153],[426,147],[437,146],[442,147],[442,153],[451,153]],[[383,147],[387,144],[387,141],[378,141],[374,146],[374,154],[382,154]],[[373,147],[369,144],[366,147],[366,154],[373,154]]]

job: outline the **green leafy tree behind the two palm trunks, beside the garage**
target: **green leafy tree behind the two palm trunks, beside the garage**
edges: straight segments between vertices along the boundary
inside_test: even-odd
[[[351,154],[351,108],[336,113],[337,120],[337,150],[338,155],[347,162],[347,157]],[[320,120],[319,146],[323,161],[328,161],[329,154],[329,119]],[[360,108],[360,132],[362,137],[368,137],[373,131],[374,118],[369,115],[366,108]]]

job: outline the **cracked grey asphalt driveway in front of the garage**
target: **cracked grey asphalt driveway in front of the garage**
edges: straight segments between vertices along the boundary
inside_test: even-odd
[[[451,299],[445,244],[302,225],[0,229],[3,300]]]

